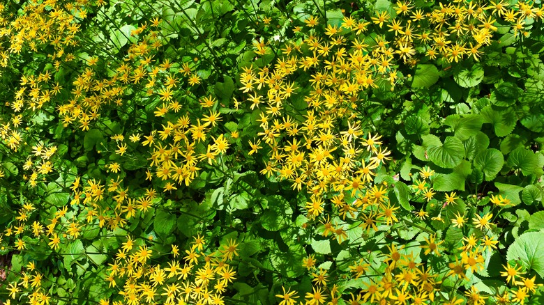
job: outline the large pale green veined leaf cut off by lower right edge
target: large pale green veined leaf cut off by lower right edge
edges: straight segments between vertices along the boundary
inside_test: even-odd
[[[544,234],[540,232],[523,233],[508,247],[507,260],[520,259],[522,265],[544,277]]]

